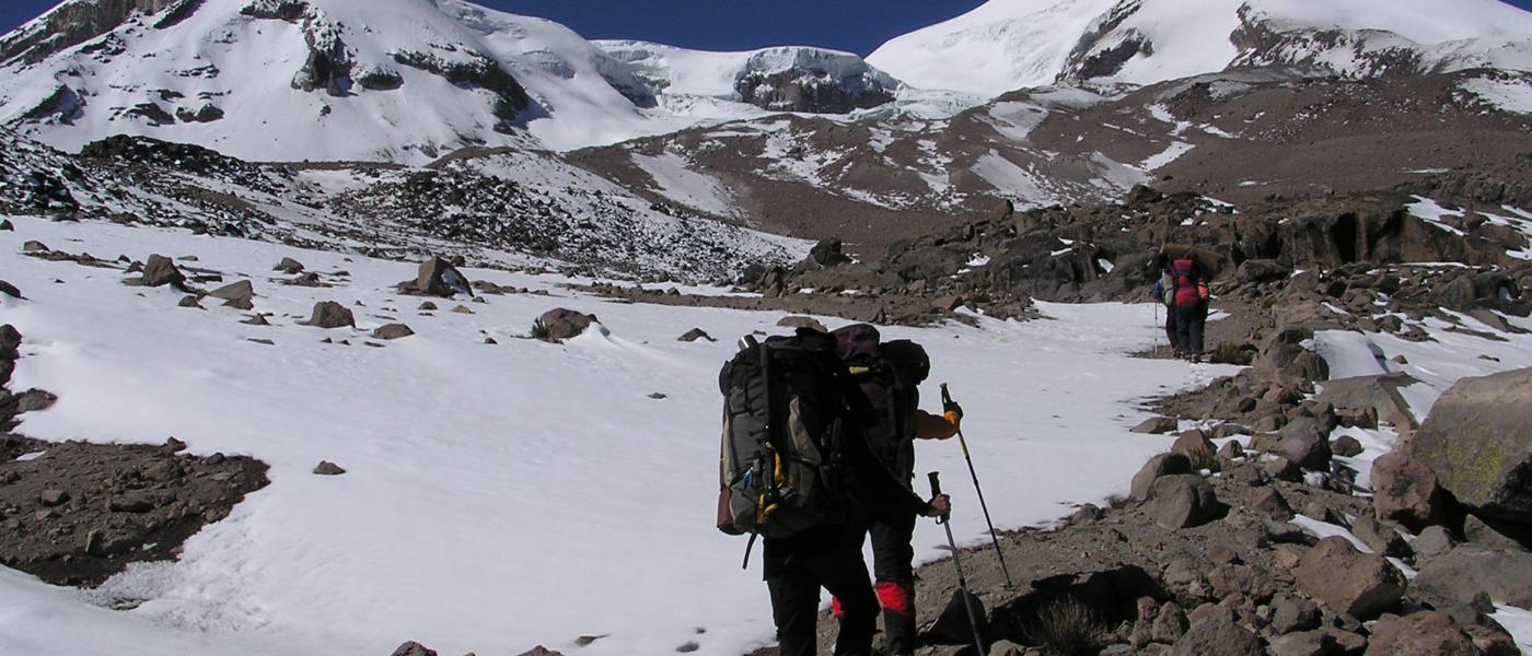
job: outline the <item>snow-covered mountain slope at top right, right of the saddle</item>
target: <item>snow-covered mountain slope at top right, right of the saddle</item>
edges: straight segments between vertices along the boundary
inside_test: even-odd
[[[991,0],[867,58],[928,89],[1154,84],[1229,66],[1344,76],[1532,69],[1532,14],[1497,0]]]

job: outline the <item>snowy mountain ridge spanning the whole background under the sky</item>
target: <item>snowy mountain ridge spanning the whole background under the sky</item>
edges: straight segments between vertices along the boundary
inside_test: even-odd
[[[591,43],[460,0],[69,0],[0,38],[0,124],[64,150],[127,133],[256,161],[426,164],[784,112],[945,119],[1016,89],[1244,66],[1526,70],[1529,43],[1532,14],[1495,0],[993,0],[866,60]]]

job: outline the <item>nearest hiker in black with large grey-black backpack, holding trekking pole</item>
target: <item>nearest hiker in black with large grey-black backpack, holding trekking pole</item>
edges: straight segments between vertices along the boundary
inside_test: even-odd
[[[861,540],[869,517],[939,517],[889,474],[863,428],[873,407],[836,355],[836,338],[746,338],[719,375],[725,396],[719,529],[761,541],[783,656],[812,656],[820,589],[840,599],[835,654],[870,654],[878,599]]]

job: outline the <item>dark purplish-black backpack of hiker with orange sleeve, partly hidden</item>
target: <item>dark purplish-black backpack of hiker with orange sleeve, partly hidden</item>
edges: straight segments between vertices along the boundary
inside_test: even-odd
[[[931,370],[925,349],[908,339],[881,343],[878,329],[852,324],[835,330],[836,355],[867,399],[859,416],[867,447],[890,474],[905,486],[915,476],[915,440],[910,414],[919,407],[921,381]]]

